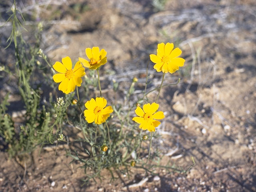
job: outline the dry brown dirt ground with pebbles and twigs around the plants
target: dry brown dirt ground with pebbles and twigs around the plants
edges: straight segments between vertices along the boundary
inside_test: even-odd
[[[54,146],[40,154],[36,150],[33,159],[20,162],[23,167],[19,159],[9,159],[1,151],[1,192],[256,191],[256,2],[167,0],[162,8],[157,8],[157,2],[164,0],[65,1],[55,5],[63,11],[44,29],[43,46],[52,61],[67,55],[72,60],[84,57],[86,47],[104,48],[108,64],[102,80],[114,78],[127,90],[126,82],[137,77],[138,96],[144,89],[149,54],[156,53],[159,42],[174,42],[186,62],[179,72],[166,74],[164,83],[179,77],[181,82],[162,89],[159,104],[166,117],[152,148],[166,154],[162,164],[171,161],[187,168],[192,156],[196,165],[186,174],[157,169],[158,176],[133,168],[129,178],[120,175],[112,182],[104,171],[104,180],[81,186],[83,170],[79,163],[69,164],[72,159],[63,149],[68,146],[60,147],[56,155]],[[86,5],[86,11],[70,11],[75,3]],[[51,13],[39,16],[47,18]],[[6,26],[0,33],[8,30]],[[1,57],[5,54],[1,46]],[[11,61],[2,57],[0,62]],[[160,85],[162,74],[153,63],[149,66],[151,90]],[[12,88],[1,78],[0,82],[2,97]],[[107,94],[111,88],[106,83],[102,89]],[[154,100],[156,94],[149,98]],[[18,99],[14,95],[11,104]],[[140,181],[146,182],[127,187]]]

